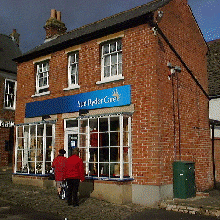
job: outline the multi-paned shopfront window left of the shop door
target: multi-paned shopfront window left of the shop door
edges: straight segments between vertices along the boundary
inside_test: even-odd
[[[16,126],[15,173],[47,174],[54,159],[55,124]]]

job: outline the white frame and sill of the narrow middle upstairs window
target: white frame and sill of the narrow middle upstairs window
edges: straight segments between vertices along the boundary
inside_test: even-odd
[[[74,57],[74,61],[72,62]],[[75,74],[72,74],[73,67],[76,67]],[[75,83],[72,83],[72,76],[75,77]],[[68,54],[68,88],[64,90],[70,89],[78,89],[79,86],[79,51],[73,51]]]

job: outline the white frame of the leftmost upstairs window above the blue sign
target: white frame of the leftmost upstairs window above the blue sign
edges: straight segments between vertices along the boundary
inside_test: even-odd
[[[43,70],[44,69],[44,64],[46,64],[46,70]],[[40,73],[40,66],[41,66],[41,73],[43,73],[43,79],[46,78],[46,81],[47,83],[43,86],[40,86],[39,85],[39,73]],[[48,89],[49,88],[49,60],[44,60],[42,62],[39,62],[37,63],[37,72],[36,72],[36,94],[39,94],[39,95],[43,95],[43,94],[48,94],[49,91],[44,91],[44,92],[41,92],[41,90],[44,90],[44,89]]]

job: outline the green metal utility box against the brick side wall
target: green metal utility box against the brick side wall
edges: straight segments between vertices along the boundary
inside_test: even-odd
[[[196,196],[195,163],[175,161],[173,163],[174,198],[186,199]]]

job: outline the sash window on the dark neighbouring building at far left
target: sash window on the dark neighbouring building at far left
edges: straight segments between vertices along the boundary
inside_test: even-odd
[[[5,80],[5,97],[4,107],[7,109],[15,109],[16,100],[16,81],[11,79]]]

